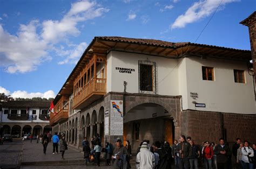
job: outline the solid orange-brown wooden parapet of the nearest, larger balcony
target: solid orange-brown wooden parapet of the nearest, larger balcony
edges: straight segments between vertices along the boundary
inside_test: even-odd
[[[73,109],[82,109],[106,94],[106,79],[93,78],[73,98]]]

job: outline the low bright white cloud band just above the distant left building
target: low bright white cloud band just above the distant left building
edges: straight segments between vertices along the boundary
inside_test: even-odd
[[[28,93],[27,91],[21,91],[17,90],[14,91],[13,93],[10,93],[9,90],[6,90],[5,88],[0,86],[0,93],[4,93],[5,95],[10,95],[11,97],[14,98],[33,98],[33,97],[42,97],[42,98],[55,98],[55,93],[52,90],[45,91],[44,93]]]

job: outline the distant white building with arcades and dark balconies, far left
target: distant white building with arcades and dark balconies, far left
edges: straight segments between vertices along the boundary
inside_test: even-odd
[[[21,138],[28,133],[39,135],[51,132],[49,106],[49,101],[2,102],[1,135],[11,134],[12,137]]]

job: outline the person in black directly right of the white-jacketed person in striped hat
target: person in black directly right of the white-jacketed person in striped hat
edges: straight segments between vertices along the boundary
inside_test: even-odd
[[[160,142],[155,142],[153,144],[153,149],[155,150],[154,152],[157,153],[159,160],[158,164],[156,165],[157,169],[167,169],[170,168],[168,164],[168,157],[167,157],[167,152],[161,148],[161,143]]]

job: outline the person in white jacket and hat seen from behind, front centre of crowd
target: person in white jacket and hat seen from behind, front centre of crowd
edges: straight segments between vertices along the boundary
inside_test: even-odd
[[[147,145],[146,142],[142,144],[142,147],[140,147],[140,152],[136,156],[136,168],[154,168],[154,154],[149,151],[149,145]]]

